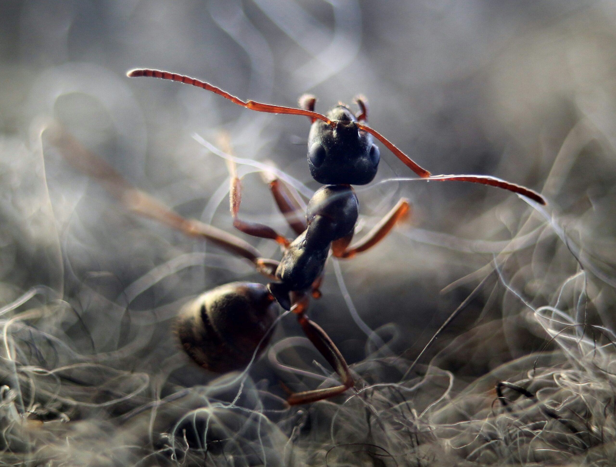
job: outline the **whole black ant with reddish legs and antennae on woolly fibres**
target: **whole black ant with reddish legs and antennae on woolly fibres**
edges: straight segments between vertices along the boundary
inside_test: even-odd
[[[482,175],[431,175],[383,135],[367,126],[368,106],[363,97],[355,98],[360,109],[358,114],[353,114],[346,105],[340,104],[323,115],[314,111],[316,98],[309,94],[299,98],[299,108],[290,108],[252,100],[243,101],[207,82],[167,71],[137,69],[129,71],[127,75],[131,78],[148,76],[179,81],[214,92],[250,110],[304,115],[312,123],[308,137],[308,165],[314,180],[325,186],[317,190],[308,202],[305,221],[298,215],[302,212],[301,203],[290,187],[275,177],[269,180],[278,209],[298,235],[293,241],[267,225],[245,222],[239,218],[241,182],[235,173],[235,167],[230,166],[230,210],[233,226],[245,234],[278,242],[283,249],[280,261],[262,258],[252,245],[232,234],[197,220],[180,217],[147,194],[133,188],[111,167],[79,148],[68,135],[60,134],[55,138],[59,146],[72,151],[73,164],[86,174],[99,178],[111,193],[132,210],[155,218],[189,236],[213,241],[251,261],[259,273],[272,281],[267,285],[234,282],[204,293],[184,306],[177,321],[176,332],[184,350],[193,361],[214,372],[227,372],[245,367],[253,355],[258,356],[267,345],[277,316],[276,303],[285,310],[290,310],[297,315],[307,338],[341,378],[341,385],[338,386],[290,394],[287,399],[290,405],[320,401],[354,386],[351,371],[336,345],[325,330],[306,316],[309,295],[320,297],[318,287],[330,250],[336,258],[352,258],[376,245],[400,219],[410,214],[410,203],[407,199],[400,199],[373,230],[351,245],[359,216],[359,203],[351,185],[365,185],[376,175],[380,152],[373,143],[373,137],[421,178],[496,186],[546,204],[545,199],[535,191],[500,178]]]

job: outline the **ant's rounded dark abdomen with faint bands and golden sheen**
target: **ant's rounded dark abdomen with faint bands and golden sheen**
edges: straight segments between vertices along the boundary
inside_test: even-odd
[[[176,332],[193,361],[224,373],[248,365],[257,347],[261,353],[277,314],[276,301],[265,285],[233,282],[184,305]]]

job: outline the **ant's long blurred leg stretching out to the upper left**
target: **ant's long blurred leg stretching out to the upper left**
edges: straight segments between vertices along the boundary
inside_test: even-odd
[[[83,174],[95,178],[126,209],[143,217],[157,220],[190,237],[211,241],[219,247],[251,261],[259,273],[270,278],[275,277],[274,271],[278,266],[278,261],[262,258],[259,250],[241,238],[198,220],[186,219],[144,191],[135,188],[107,162],[84,148],[60,124],[52,124],[47,127],[45,135],[71,166]]]

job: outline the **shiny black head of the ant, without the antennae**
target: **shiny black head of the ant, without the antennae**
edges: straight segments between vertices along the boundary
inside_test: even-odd
[[[308,135],[308,165],[312,178],[323,185],[365,185],[375,178],[379,148],[372,135],[360,130],[345,105],[327,113],[334,125],[316,120]]]

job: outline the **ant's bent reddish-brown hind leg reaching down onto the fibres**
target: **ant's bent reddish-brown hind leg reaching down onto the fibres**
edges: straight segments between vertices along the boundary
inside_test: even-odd
[[[347,389],[352,388],[355,384],[351,375],[351,370],[349,370],[349,365],[344,361],[344,357],[342,357],[336,345],[331,341],[322,327],[314,321],[310,321],[304,314],[307,304],[308,300],[304,297],[293,305],[291,311],[298,314],[299,324],[304,330],[306,337],[309,338],[310,342],[312,342],[322,356],[325,357],[331,367],[336,370],[336,373],[338,373],[338,376],[342,380],[342,384],[334,386],[333,388],[312,389],[310,391],[291,394],[287,399],[290,405],[308,404],[309,402],[316,402],[327,399],[328,397],[337,396],[338,394],[344,393]]]

